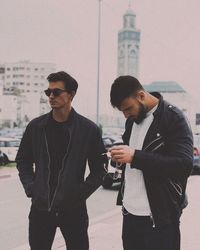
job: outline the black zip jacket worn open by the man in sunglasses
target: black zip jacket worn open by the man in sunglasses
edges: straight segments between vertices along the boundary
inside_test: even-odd
[[[49,200],[49,152],[45,128],[50,113],[32,120],[23,135],[17,156],[19,177],[28,197],[39,210],[66,210],[84,202],[100,185],[105,152],[99,128],[73,109],[69,116],[70,134],[54,198]],[[90,174],[84,180],[86,163]]]

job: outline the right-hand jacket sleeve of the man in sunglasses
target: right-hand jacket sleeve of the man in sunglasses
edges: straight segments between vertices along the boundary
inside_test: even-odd
[[[88,165],[90,173],[81,187],[84,199],[87,199],[102,184],[106,171],[104,168],[105,162],[101,155],[105,152],[100,130],[96,128],[89,146]]]

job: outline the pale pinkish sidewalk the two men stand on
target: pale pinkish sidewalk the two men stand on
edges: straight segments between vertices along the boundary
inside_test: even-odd
[[[0,171],[0,175],[8,174],[5,169]],[[16,173],[10,173],[15,175]],[[181,217],[181,250],[199,250],[200,249],[200,199],[199,199],[199,176],[193,176],[188,181],[188,197],[189,205],[184,210]],[[106,205],[106,204],[102,204]],[[122,230],[122,215],[121,207],[104,213],[98,217],[90,219],[89,226],[89,241],[90,250],[122,250],[121,241]],[[18,246],[11,250],[28,250],[28,242],[23,246]],[[59,230],[57,230],[56,237],[52,250],[65,250],[65,243]]]

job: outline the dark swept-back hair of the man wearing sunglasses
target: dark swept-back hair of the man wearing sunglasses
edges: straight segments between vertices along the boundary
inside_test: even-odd
[[[50,74],[47,77],[47,80],[49,82],[58,82],[58,81],[63,82],[65,90],[67,90],[67,92],[69,93],[72,93],[73,91],[76,93],[78,89],[77,81],[64,71],[59,71],[57,73]]]

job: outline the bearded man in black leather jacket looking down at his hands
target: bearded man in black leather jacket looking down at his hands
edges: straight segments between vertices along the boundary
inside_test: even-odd
[[[117,200],[124,250],[180,250],[179,219],[193,166],[190,126],[178,108],[132,76],[117,78],[110,97],[127,118],[125,145],[111,149],[112,160],[124,164]]]

